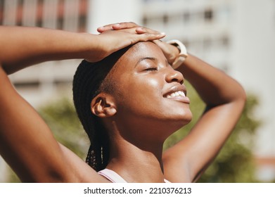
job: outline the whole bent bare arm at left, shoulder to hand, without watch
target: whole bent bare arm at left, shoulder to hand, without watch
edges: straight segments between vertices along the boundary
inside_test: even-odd
[[[164,34],[136,34],[136,28],[94,35],[37,27],[0,27],[0,154],[23,182],[105,179],[58,144],[44,120],[15,91],[7,75],[44,61],[99,61],[129,44],[160,37]]]

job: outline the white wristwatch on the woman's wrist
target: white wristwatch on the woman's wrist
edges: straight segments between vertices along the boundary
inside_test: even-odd
[[[167,44],[172,44],[174,46],[177,46],[177,48],[179,49],[179,56],[177,56],[174,63],[172,64],[172,68],[177,69],[182,63],[184,63],[185,59],[188,56],[186,46],[184,46],[184,44],[182,44],[177,39],[172,39],[168,41]]]

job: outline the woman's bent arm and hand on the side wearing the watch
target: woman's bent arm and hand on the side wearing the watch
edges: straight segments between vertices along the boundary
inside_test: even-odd
[[[156,43],[173,61],[175,55],[169,53],[177,51],[175,47]],[[172,182],[195,182],[238,122],[245,105],[245,91],[229,75],[191,54],[178,70],[198,91],[207,107],[188,136],[165,152],[165,176]]]

